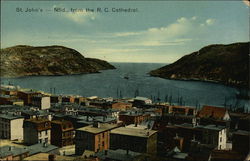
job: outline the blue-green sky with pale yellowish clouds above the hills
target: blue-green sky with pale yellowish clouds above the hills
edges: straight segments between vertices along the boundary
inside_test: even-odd
[[[243,1],[1,1],[1,48],[63,45],[109,62],[172,63],[207,45],[246,41]]]

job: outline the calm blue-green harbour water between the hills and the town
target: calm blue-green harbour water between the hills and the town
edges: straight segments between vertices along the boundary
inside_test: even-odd
[[[249,108],[249,102],[237,100],[237,89],[215,83],[199,81],[176,81],[151,77],[147,73],[165,64],[150,63],[112,63],[117,69],[95,74],[70,76],[33,76],[16,79],[2,79],[23,88],[33,88],[50,92],[55,88],[57,94],[75,94],[100,97],[134,97],[137,90],[140,96],[160,98],[161,101],[172,96],[172,102],[182,97],[185,105],[222,106],[225,102]],[[124,76],[129,79],[124,79]],[[52,90],[54,91],[54,90]]]

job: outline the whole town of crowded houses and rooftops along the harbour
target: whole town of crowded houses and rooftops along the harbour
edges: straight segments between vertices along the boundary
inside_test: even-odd
[[[1,86],[0,160],[249,160],[250,114]],[[8,141],[8,144],[4,144]]]

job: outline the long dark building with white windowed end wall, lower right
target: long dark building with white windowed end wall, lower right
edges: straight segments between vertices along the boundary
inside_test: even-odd
[[[165,139],[162,141],[165,143],[166,150],[178,146],[180,150],[188,151],[193,140],[219,150],[226,149],[227,129],[225,126],[194,126],[185,123],[181,125],[168,125],[163,133]],[[176,139],[179,141],[176,142]],[[177,143],[178,145],[176,145]],[[182,145],[180,145],[180,143]]]

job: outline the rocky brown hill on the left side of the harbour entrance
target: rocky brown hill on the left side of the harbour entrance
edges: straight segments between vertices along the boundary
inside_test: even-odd
[[[1,77],[69,75],[115,69],[106,61],[85,58],[63,46],[19,45],[1,49]]]

